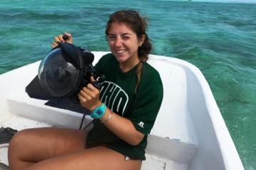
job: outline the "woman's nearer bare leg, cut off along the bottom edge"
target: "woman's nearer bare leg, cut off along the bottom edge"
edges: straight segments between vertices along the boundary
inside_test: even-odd
[[[139,170],[141,160],[125,160],[124,155],[106,147],[92,147],[60,157],[53,157],[30,166],[27,170]]]

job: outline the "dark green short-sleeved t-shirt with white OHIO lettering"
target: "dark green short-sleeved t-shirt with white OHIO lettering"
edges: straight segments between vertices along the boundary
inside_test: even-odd
[[[130,159],[145,159],[146,138],[153,128],[163,98],[163,85],[159,72],[148,63],[143,64],[142,77],[137,84],[137,66],[122,72],[114,55],[103,56],[95,65],[96,74],[105,75],[100,89],[100,100],[112,110],[132,121],[134,127],[145,136],[137,146],[129,145],[114,135],[100,120],[93,120],[93,128],[87,136],[87,147],[105,146]]]

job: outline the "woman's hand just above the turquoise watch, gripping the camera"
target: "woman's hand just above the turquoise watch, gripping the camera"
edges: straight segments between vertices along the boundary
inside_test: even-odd
[[[91,81],[95,81],[93,77],[91,77]],[[83,107],[93,111],[98,106],[102,105],[100,101],[100,89],[97,89],[92,84],[87,84],[80,93],[78,94],[78,98]]]

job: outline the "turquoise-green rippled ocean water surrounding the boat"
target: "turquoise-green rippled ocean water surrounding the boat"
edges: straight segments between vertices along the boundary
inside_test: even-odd
[[[178,1],[0,1],[0,74],[41,60],[53,37],[109,50],[113,11],[132,8],[149,20],[153,54],[195,64],[208,80],[245,169],[256,169],[256,4]]]

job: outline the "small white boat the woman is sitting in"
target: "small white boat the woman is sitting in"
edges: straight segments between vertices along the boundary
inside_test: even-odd
[[[107,52],[93,52],[95,62]],[[80,126],[82,114],[46,106],[29,98],[25,87],[36,77],[40,61],[0,75],[0,125],[16,130]],[[142,170],[244,169],[228,128],[201,71],[183,60],[150,55],[164,84],[164,99],[148,138]],[[85,116],[83,127],[92,119]],[[89,126],[90,127],[90,126]],[[7,147],[0,162],[8,164]]]

